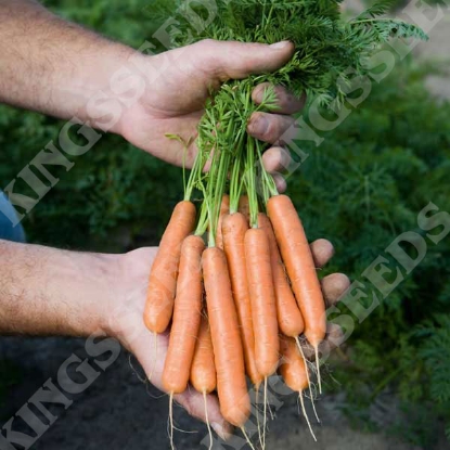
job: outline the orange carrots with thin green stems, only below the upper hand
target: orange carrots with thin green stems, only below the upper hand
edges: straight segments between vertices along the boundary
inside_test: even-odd
[[[163,373],[170,398],[191,383],[206,407],[217,390],[222,415],[245,433],[247,377],[267,393],[279,371],[303,401],[310,378],[299,336],[318,356],[325,304],[301,220],[263,169],[262,144],[233,113],[216,126],[230,139],[200,147],[151,270],[144,321],[154,334],[171,324]]]

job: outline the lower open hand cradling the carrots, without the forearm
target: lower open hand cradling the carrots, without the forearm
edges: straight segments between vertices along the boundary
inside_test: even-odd
[[[313,242],[311,249],[318,267],[326,265],[334,254],[332,244],[325,240]],[[155,346],[155,337],[142,320],[149,280],[149,261],[154,259],[156,252],[157,248],[141,248],[123,257],[123,280],[126,280],[125,292],[128,292],[128,296],[126,299],[117,298],[115,300],[117,304],[110,306],[112,313],[108,327],[111,334],[134,353],[151,383],[163,390],[162,374],[168,347],[168,334],[157,336],[157,346]],[[325,277],[322,280],[322,288],[327,304],[334,305],[348,286],[349,280],[342,273]],[[175,400],[191,415],[205,421],[203,396],[192,387],[176,396]],[[219,436],[227,438],[232,428],[222,417],[215,395],[208,396],[207,406],[214,429]]]

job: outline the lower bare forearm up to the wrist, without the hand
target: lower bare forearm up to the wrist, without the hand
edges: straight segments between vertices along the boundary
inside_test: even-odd
[[[0,335],[88,336],[120,296],[120,257],[0,241]]]

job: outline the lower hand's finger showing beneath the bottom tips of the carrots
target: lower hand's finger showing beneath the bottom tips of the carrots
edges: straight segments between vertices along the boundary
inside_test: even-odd
[[[180,403],[190,415],[206,423],[205,399],[202,394],[189,387],[183,394],[179,394],[173,399]],[[213,429],[224,440],[229,439],[233,433],[233,427],[223,419],[220,413],[219,400],[215,395],[206,397],[206,409],[208,412],[209,424]]]

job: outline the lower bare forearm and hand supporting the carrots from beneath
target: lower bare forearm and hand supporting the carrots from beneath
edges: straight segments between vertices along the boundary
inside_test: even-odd
[[[334,249],[329,241],[311,244],[320,267]],[[37,245],[0,241],[0,335],[90,336],[108,335],[134,353],[152,384],[163,389],[163,369],[168,335],[157,337],[145,327],[142,314],[147,288],[149,263],[157,248],[140,248],[125,255],[66,252]],[[334,305],[348,288],[342,273],[325,277],[322,288]],[[340,330],[330,329],[335,347]],[[203,397],[195,389],[175,396],[190,414],[205,420]],[[216,396],[207,398],[209,420],[222,437],[231,427],[220,414]]]

